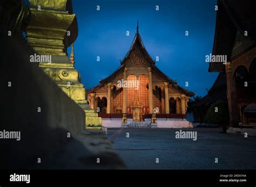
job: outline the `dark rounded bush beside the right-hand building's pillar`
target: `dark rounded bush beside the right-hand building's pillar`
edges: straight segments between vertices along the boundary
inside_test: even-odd
[[[217,124],[223,128],[223,132],[227,131],[228,124],[228,106],[227,102],[223,100],[218,100],[213,103],[208,109],[205,120],[210,124]]]

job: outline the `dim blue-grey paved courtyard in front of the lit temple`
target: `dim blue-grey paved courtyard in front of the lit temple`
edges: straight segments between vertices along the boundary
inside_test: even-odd
[[[256,169],[255,136],[224,134],[220,128],[183,128],[197,131],[193,141],[176,139],[176,131],[179,129],[109,128],[107,138],[130,169]]]

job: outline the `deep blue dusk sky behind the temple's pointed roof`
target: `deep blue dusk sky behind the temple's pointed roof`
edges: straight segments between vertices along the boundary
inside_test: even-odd
[[[120,66],[136,34],[137,20],[147,51],[153,60],[159,56],[157,67],[178,85],[204,96],[215,81],[218,74],[208,72],[205,55],[212,53],[217,0],[75,0],[72,4],[78,20],[75,67],[86,89]]]

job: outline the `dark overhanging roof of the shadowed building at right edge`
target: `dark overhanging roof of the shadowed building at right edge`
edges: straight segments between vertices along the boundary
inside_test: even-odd
[[[212,55],[227,55],[233,61],[255,46],[256,1],[218,0]],[[225,29],[224,29],[225,28]],[[245,36],[247,31],[247,36]],[[208,71],[224,72],[223,63],[209,63]]]

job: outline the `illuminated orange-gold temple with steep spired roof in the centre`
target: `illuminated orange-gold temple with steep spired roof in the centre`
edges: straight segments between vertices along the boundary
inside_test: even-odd
[[[143,45],[138,24],[130,51],[120,63],[116,71],[87,92],[89,105],[103,118],[103,126],[119,127],[124,117],[128,125],[149,125],[152,117],[158,127],[189,125],[185,120],[187,102],[194,93],[178,86],[157,68]],[[164,125],[160,119],[165,120]]]

